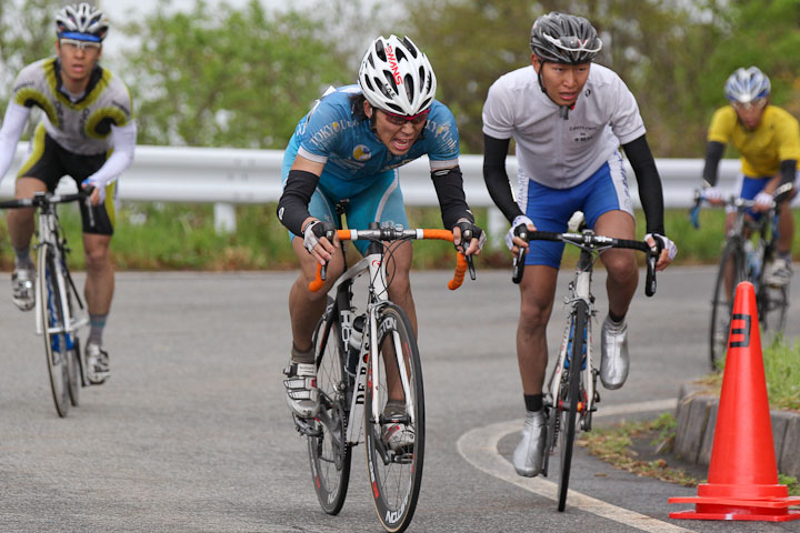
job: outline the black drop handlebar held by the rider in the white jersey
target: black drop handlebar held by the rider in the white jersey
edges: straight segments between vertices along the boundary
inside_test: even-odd
[[[528,231],[524,227],[518,228],[514,234],[528,242],[530,241],[557,241],[574,244],[578,248],[596,249],[596,248],[623,248],[629,250],[638,250],[647,253],[647,278],[644,282],[644,294],[652,296],[656,294],[656,261],[663,249],[661,242],[656,239],[656,247],[651,248],[647,242],[633,241],[630,239],[614,239],[611,237],[596,235],[591,231],[583,233],[554,233],[551,231]],[[519,254],[514,260],[513,273],[511,281],[520,283],[524,274],[524,258],[527,254],[524,248],[520,248]]]

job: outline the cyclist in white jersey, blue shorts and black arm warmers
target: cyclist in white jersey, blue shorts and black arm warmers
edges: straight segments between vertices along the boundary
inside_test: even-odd
[[[531,30],[531,66],[498,79],[483,107],[483,177],[494,203],[511,222],[506,239],[514,254],[528,248],[520,284],[517,354],[526,422],[513,454],[517,473],[536,476],[544,447],[542,386],[547,368],[546,328],[552,311],[563,243],[514,237],[529,230],[567,231],[574,211],[599,234],[634,239],[633,207],[620,144],[633,168],[647,218],[646,240],[664,249],[657,270],[677,248],[663,229],[663,198],[656,162],[633,94],[611,70],[592,60],[602,42],[582,17],[551,12]],[[509,187],[506,157],[517,142],[517,200]],[[624,321],[638,283],[630,250],[601,257],[608,271],[609,313],[602,326],[600,379],[619,389],[628,376],[628,328]]]

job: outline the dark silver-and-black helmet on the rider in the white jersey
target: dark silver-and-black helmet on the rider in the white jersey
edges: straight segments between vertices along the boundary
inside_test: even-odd
[[[531,51],[542,61],[588,63],[602,49],[597,30],[583,17],[552,11],[531,28]]]

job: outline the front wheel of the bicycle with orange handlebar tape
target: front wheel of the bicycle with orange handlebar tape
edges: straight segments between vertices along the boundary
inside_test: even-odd
[[[376,331],[379,339],[379,373],[372,375],[372,365],[368,365],[367,394],[364,400],[364,441],[367,444],[367,466],[371,483],[372,501],[383,527],[391,533],[408,527],[413,517],[422,484],[422,464],[424,459],[424,393],[422,389],[422,368],[417,339],[411,321],[399,306],[387,303],[378,313]],[[390,349],[391,346],[391,349]],[[400,349],[406,361],[408,375],[407,424],[400,431],[413,432],[413,444],[399,451],[383,443],[381,423],[383,408],[388,400],[386,365],[394,363],[394,350]],[[372,411],[371,384],[373,380],[380,394],[379,412]],[[410,411],[409,411],[410,408]],[[403,433],[406,434],[406,433]]]

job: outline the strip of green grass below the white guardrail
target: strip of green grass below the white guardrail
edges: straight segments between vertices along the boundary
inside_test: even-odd
[[[240,205],[237,208],[237,232],[217,234],[213,208],[210,204],[132,203],[124,202],[118,213],[112,253],[120,270],[271,270],[292,269],[294,254],[283,227],[274,214],[276,205]],[[436,208],[408,208],[413,227],[441,228]],[[63,207],[61,221],[76,253],[71,264],[83,268],[80,220],[77,208]],[[487,227],[487,210],[477,209],[478,224]],[[793,250],[800,250],[800,213],[794,212],[798,231]],[[678,243],[674,264],[712,264],[722,248],[724,213],[703,210],[700,229],[694,230],[686,210],[668,210],[667,234]],[[638,237],[644,234],[644,218],[638,213]],[[4,218],[0,219],[0,242],[8,243]],[[571,266],[578,251],[568,247],[563,264]],[[643,258],[639,258],[643,260]],[[9,270],[13,261],[10,247],[0,247],[0,268]],[[478,269],[509,269],[511,259],[502,242],[487,248],[476,261]],[[414,244],[414,268],[449,269],[453,264],[452,248],[440,242]]]

